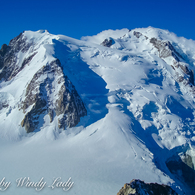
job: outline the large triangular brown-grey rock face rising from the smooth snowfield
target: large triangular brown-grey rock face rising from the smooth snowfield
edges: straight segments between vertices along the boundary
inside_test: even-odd
[[[57,92],[53,89],[54,82],[59,85]],[[31,105],[33,107],[26,113]],[[27,132],[37,128],[41,114],[48,114],[50,122],[57,115],[58,126],[63,129],[76,126],[80,117],[87,115],[81,98],[68,77],[64,76],[58,59],[42,67],[34,75],[27,86],[20,109],[26,113],[21,125]]]

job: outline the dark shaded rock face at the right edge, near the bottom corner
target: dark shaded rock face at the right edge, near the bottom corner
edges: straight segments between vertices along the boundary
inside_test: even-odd
[[[195,193],[195,171],[192,157],[183,153],[181,156],[175,155],[166,161],[170,172],[182,182],[185,182],[190,190]]]

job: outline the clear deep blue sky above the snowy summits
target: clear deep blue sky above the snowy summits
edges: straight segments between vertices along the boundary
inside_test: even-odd
[[[0,0],[0,45],[24,30],[80,39],[153,26],[195,40],[194,0]]]

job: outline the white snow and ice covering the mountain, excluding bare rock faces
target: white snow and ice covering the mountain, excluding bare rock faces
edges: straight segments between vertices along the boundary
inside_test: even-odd
[[[1,101],[9,101],[9,108],[0,112],[1,177],[12,182],[5,194],[113,195],[132,179],[169,184],[183,192],[165,161],[178,147],[194,145],[194,94],[177,82],[173,59],[160,58],[150,39],[170,41],[192,70],[194,41],[152,27],[108,30],[82,40],[47,31],[26,31],[24,36],[38,53],[16,77],[0,84]],[[109,37],[113,45],[101,45]],[[20,52],[19,64],[28,55]],[[17,105],[33,75],[54,58],[88,115],[65,131],[58,129],[55,118],[50,123],[45,116],[40,131],[27,134]],[[34,182],[44,177],[47,186],[41,192],[17,188],[15,180],[21,177]],[[52,190],[48,186],[54,177],[71,177],[74,185],[68,192]]]

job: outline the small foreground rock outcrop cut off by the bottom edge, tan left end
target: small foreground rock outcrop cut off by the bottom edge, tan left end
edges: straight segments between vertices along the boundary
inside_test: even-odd
[[[132,180],[120,189],[117,195],[178,195],[171,187],[157,183]]]

